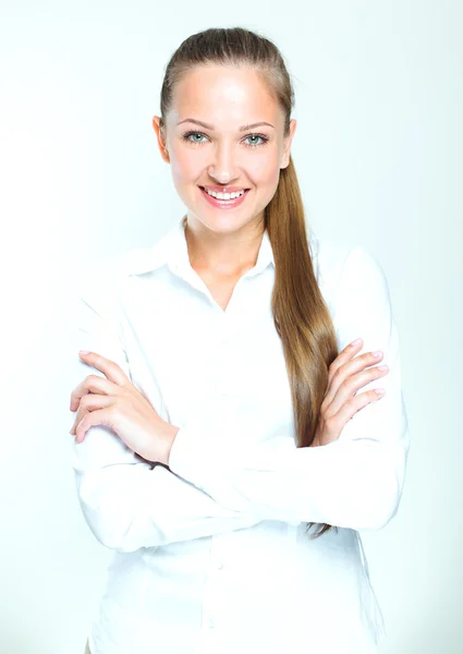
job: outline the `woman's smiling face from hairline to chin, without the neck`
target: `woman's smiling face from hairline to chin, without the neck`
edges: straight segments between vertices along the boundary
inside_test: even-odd
[[[289,165],[296,121],[288,137],[283,122],[282,110],[252,69],[207,65],[186,74],[175,87],[166,131],[159,130],[159,117],[153,126],[190,223],[223,233],[260,225],[280,169]],[[239,203],[220,206],[207,198],[204,186],[246,192]]]

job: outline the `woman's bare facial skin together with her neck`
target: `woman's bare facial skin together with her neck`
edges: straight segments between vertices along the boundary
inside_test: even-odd
[[[291,175],[296,121],[285,116],[281,104],[287,92],[281,86],[289,80],[275,78],[275,72],[263,75],[261,63],[240,60],[237,52],[234,58],[223,53],[222,61],[212,56],[188,66],[187,74],[185,61],[171,64],[161,116],[154,118],[153,126],[176,192],[190,209],[193,266],[233,274],[233,267],[239,270],[255,258],[252,243],[257,246],[261,240],[266,207],[276,195],[280,173],[290,167],[285,173]],[[223,197],[214,198],[204,189]],[[230,193],[242,190],[244,195],[230,198]]]

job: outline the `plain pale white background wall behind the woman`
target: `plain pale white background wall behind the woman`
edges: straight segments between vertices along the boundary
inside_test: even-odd
[[[412,448],[399,513],[363,535],[380,652],[461,653],[462,17],[450,0],[2,0],[2,652],[84,651],[111,552],[69,463],[73,283],[184,213],[151,128],[163,69],[191,34],[243,26],[293,77],[316,235],[366,247],[390,286]]]

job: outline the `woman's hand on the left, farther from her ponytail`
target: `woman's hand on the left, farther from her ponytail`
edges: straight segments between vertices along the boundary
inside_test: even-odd
[[[134,452],[168,465],[179,427],[156,413],[117,363],[96,352],[80,356],[106,378],[89,375],[71,393],[70,411],[78,409],[70,429],[75,441],[82,443],[89,427],[108,425]]]

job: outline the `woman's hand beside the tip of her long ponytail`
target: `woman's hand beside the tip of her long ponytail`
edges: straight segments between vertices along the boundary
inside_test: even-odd
[[[357,411],[383,397],[383,393],[378,395],[375,389],[355,395],[373,379],[389,373],[389,368],[381,371],[378,367],[369,367],[365,371],[366,367],[381,361],[382,352],[379,356],[374,356],[371,352],[354,356],[362,344],[363,341],[356,346],[348,346],[331,363],[328,387],[320,408],[320,420],[310,447],[328,445],[337,440],[345,424]]]

